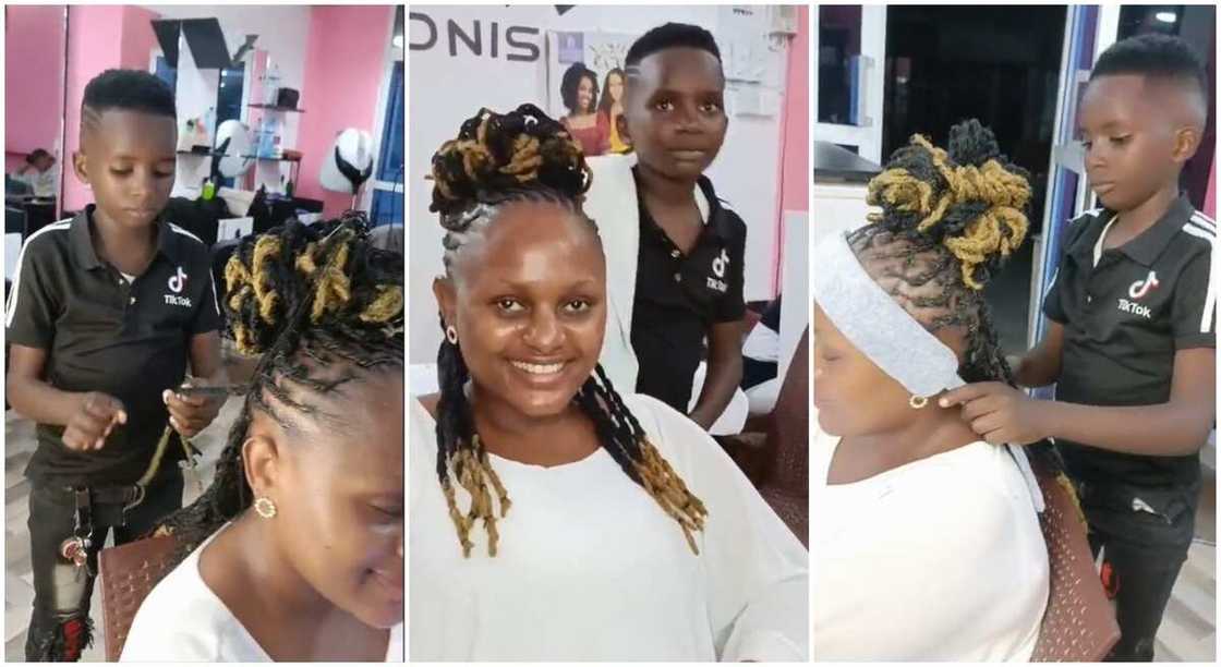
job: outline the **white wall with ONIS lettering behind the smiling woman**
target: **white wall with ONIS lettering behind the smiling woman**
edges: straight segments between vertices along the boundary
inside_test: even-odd
[[[441,225],[436,214],[429,213],[432,200],[431,183],[425,180],[430,160],[437,147],[458,133],[459,123],[482,108],[505,111],[531,101],[546,108],[545,62],[549,31],[598,31],[606,33],[642,34],[668,21],[695,23],[717,37],[723,55],[728,55],[728,37],[718,32],[724,7],[716,6],[575,6],[559,16],[553,6],[518,5],[408,7],[408,43],[422,44],[429,38],[426,26],[411,18],[422,13],[436,26],[436,44],[425,50],[409,50],[410,77],[408,93],[408,220],[410,253],[409,283],[409,360],[424,363],[436,357],[441,342],[432,279],[441,274]],[[458,56],[449,54],[447,21],[454,21],[463,32],[474,31],[480,22],[482,55],[475,56],[463,42],[457,43]],[[490,55],[493,23],[497,56]],[[521,29],[525,28],[525,29]],[[722,26],[724,28],[724,26]],[[527,55],[529,49],[513,46],[507,33],[513,29],[514,42],[537,46],[537,59],[509,60],[509,55]],[[775,55],[775,67],[784,67],[785,53]],[[784,81],[784,72],[777,78]],[[783,98],[779,108],[783,108]],[[780,115],[736,116],[733,108],[729,132],[708,176],[717,193],[746,221],[745,297],[773,297],[775,275],[775,238],[779,225],[779,142]]]

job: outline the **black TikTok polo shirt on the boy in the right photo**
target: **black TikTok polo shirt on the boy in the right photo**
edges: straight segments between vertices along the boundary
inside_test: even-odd
[[[1089,211],[1065,232],[1063,258],[1043,305],[1065,329],[1056,398],[1089,406],[1165,403],[1175,353],[1216,347],[1216,222],[1182,197],[1153,227],[1103,250],[1095,266],[1095,247],[1112,217],[1105,209]],[[1181,486],[1200,476],[1195,454],[1137,456],[1059,443],[1070,473],[1095,484]]]

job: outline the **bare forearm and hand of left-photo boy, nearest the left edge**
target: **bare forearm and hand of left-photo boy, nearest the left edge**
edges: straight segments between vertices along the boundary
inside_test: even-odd
[[[127,423],[122,402],[106,393],[71,392],[43,379],[46,351],[12,343],[9,348],[6,396],[18,413],[39,424],[65,426],[72,450],[100,450],[115,424]]]

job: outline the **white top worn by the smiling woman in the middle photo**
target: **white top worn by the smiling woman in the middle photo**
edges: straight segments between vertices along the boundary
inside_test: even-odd
[[[436,423],[411,401],[411,661],[808,660],[805,547],[700,426],[647,396],[624,402],[708,509],[698,556],[600,448],[551,468],[490,454],[513,506],[497,556],[479,524],[464,558]]]

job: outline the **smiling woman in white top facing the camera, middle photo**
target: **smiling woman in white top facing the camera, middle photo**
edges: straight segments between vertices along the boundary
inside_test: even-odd
[[[409,408],[411,660],[807,660],[806,550],[700,426],[597,365],[578,143],[531,105],[484,110],[432,178],[446,336],[440,395]]]

